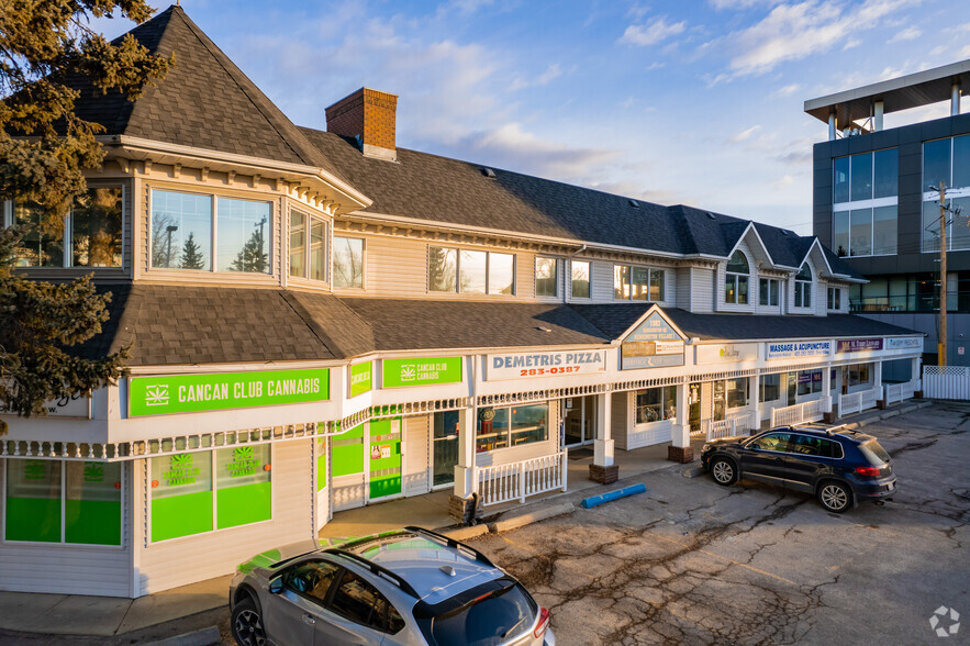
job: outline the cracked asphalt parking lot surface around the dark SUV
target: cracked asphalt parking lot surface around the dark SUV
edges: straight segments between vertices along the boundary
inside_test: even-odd
[[[470,543],[551,611],[567,646],[932,643],[934,610],[970,613],[968,428],[968,403],[862,428],[894,459],[885,506],[837,515],[674,466],[624,481],[646,494]],[[950,642],[970,643],[970,626]]]

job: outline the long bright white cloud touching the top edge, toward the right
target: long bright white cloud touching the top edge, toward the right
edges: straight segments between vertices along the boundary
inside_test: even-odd
[[[835,0],[781,4],[754,26],[728,35],[737,51],[729,68],[735,76],[770,71],[780,63],[825,52],[892,15],[904,0],[867,0],[855,9]]]

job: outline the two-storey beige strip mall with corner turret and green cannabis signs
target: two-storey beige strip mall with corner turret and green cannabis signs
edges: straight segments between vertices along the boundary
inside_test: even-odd
[[[922,336],[850,315],[862,278],[815,237],[399,148],[366,88],[297,127],[182,9],[132,34],[175,68],[134,103],[75,79],[107,158],[18,252],[112,292],[79,352],[130,346],[131,376],[10,419],[0,589],[138,597],[341,510],[564,489],[572,446],[606,481],[617,450],[918,390]]]

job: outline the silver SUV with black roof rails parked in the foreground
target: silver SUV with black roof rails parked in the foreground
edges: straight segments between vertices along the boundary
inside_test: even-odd
[[[290,546],[244,563],[230,584],[236,642],[555,646],[549,611],[486,555],[405,527]]]

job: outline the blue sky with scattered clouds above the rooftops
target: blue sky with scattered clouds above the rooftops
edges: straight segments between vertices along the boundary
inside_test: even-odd
[[[181,5],[298,125],[367,86],[398,94],[399,147],[803,235],[828,136],[804,101],[970,58],[967,0]]]

